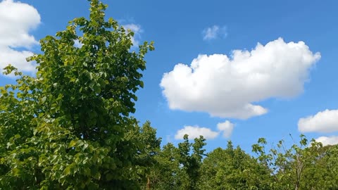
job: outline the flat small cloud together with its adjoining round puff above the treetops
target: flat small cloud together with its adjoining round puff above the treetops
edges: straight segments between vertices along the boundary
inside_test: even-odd
[[[199,136],[206,139],[215,139],[220,133],[223,133],[223,137],[229,138],[234,129],[234,124],[230,121],[220,122],[217,124],[217,129],[218,131],[213,131],[208,127],[184,126],[183,129],[176,132],[175,139],[183,139],[184,134],[188,134],[189,139],[199,138]]]

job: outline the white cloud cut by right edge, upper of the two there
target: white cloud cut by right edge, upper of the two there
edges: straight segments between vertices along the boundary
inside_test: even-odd
[[[299,119],[300,132],[337,132],[338,110],[324,110],[315,115]]]

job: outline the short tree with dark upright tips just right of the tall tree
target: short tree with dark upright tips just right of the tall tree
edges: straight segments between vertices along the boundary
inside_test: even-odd
[[[186,134],[178,147],[173,144],[163,146],[155,157],[157,164],[151,171],[152,189],[197,189],[202,158],[205,156],[205,141],[201,136],[191,143]]]

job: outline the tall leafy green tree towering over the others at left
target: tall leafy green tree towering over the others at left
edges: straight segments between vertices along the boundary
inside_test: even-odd
[[[106,7],[92,0],[89,19],[42,39],[43,53],[27,58],[36,77],[5,68],[18,80],[0,88],[0,186],[137,189],[144,168],[133,162],[144,145],[125,134],[137,125],[129,114],[154,46],[131,51],[133,32],[106,21]]]

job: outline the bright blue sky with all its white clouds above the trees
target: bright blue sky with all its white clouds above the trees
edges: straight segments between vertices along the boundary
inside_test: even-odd
[[[338,1],[104,1],[146,55],[134,117],[163,144],[203,135],[251,151],[264,137],[338,143]],[[89,2],[0,1],[0,66],[35,75],[39,39],[88,17]],[[80,45],[80,44],[78,44]],[[0,74],[0,86],[15,82]],[[292,137],[290,137],[290,134]]]

